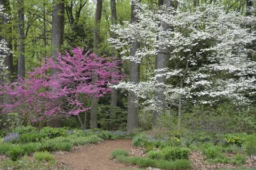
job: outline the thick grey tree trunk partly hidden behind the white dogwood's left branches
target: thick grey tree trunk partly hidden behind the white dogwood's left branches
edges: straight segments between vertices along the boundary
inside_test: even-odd
[[[172,3],[171,3],[171,0],[160,0],[160,1],[158,1],[158,5],[159,5],[159,7],[161,7],[162,5],[171,6]],[[164,31],[166,31],[169,28],[169,26],[166,23],[161,23],[161,25],[162,25]],[[166,68],[167,62],[168,62],[167,48],[162,45],[159,47],[158,50],[159,50],[159,52],[157,53],[157,56],[156,56],[156,69]],[[164,74],[164,71],[159,72],[159,74]],[[158,83],[164,84],[166,81],[166,76],[157,77],[156,80]],[[165,90],[164,86],[159,85],[157,91],[155,92],[157,109],[154,110],[154,112],[153,112],[153,126],[156,126],[157,118],[159,117],[161,112],[164,112],[164,109],[165,109],[164,90]]]

